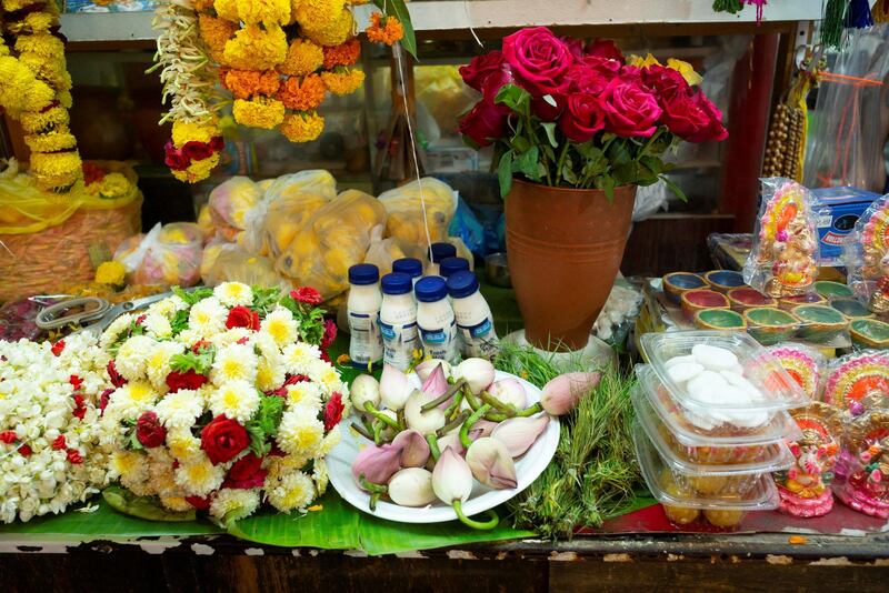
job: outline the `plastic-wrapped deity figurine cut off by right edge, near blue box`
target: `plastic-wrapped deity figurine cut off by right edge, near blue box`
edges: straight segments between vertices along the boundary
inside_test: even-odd
[[[889,313],[889,195],[876,200],[848,235],[847,284],[877,314]]]

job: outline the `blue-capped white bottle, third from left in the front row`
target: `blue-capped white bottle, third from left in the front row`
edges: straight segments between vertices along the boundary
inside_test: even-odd
[[[438,275],[422,278],[413,292],[417,295],[417,325],[423,352],[433,359],[456,364],[460,360],[457,322],[448,302],[444,279]]]

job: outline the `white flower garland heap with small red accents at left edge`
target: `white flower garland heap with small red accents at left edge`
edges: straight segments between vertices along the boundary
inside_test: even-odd
[[[61,513],[108,483],[99,404],[108,355],[88,334],[0,341],[0,521]]]

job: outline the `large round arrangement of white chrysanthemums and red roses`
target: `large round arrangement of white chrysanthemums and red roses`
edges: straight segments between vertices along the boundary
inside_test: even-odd
[[[99,421],[112,478],[220,523],[263,500],[304,511],[327,488],[324,455],[349,409],[320,295],[237,282],[173,292],[100,339],[113,356]]]

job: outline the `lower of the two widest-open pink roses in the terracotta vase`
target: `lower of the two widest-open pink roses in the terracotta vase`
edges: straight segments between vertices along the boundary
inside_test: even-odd
[[[618,135],[648,138],[662,113],[653,94],[636,82],[613,79],[602,93],[606,129]]]

